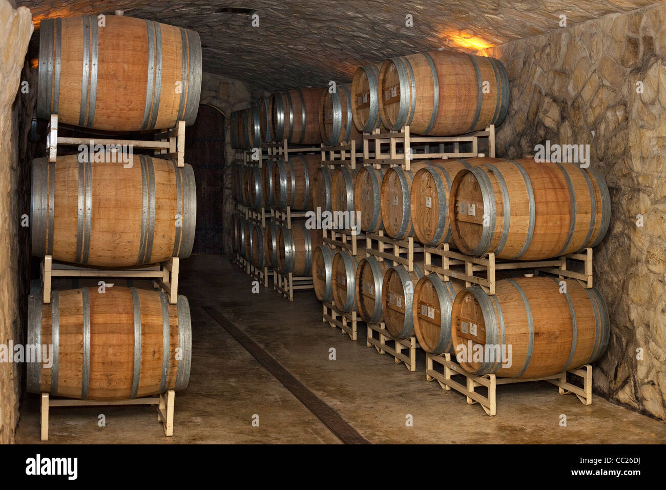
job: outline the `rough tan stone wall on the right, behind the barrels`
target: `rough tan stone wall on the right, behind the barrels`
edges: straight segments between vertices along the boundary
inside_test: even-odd
[[[612,201],[611,226],[594,251],[595,286],[612,327],[594,387],[665,419],[666,5],[484,54],[504,63],[511,82],[498,156],[534,154],[545,140],[590,145],[591,166],[605,177]]]

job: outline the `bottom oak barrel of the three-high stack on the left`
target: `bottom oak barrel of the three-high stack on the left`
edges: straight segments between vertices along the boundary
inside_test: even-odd
[[[28,343],[52,345],[53,364],[28,363],[27,391],[124,400],[187,387],[192,327],[186,297],[135,287],[83,287],[28,300]],[[178,350],[179,349],[179,350]]]

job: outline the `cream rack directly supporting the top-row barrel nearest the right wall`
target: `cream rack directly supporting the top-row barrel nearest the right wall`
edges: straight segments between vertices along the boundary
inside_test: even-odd
[[[483,131],[476,131],[460,136],[412,136],[410,127],[405,126],[400,131],[381,133],[375,129],[373,133],[363,134],[363,161],[364,165],[402,165],[405,170],[410,170],[412,159],[434,159],[434,158],[466,158],[478,157],[479,139],[488,138],[488,156],[495,157],[495,126],[489,125]],[[374,143],[374,157],[370,156],[370,142]],[[440,147],[438,152],[416,153],[413,145],[422,143],[425,145],[445,145],[444,151]],[[460,143],[471,143],[472,151],[461,151]],[[382,151],[382,145],[388,145],[388,152]],[[402,152],[398,151],[398,145],[402,145]],[[452,146],[452,151],[446,151],[446,145]]]

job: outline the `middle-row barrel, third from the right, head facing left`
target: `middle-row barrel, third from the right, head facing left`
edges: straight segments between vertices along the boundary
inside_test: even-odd
[[[390,237],[403,239],[414,236],[411,212],[411,189],[414,174],[429,165],[442,163],[444,160],[412,161],[411,170],[402,167],[390,167],[384,171],[380,199],[382,201],[382,224]]]

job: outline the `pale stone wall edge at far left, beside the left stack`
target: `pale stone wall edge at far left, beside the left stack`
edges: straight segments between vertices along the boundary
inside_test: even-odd
[[[23,343],[25,339],[25,284],[27,271],[19,272],[25,243],[21,238],[21,206],[19,189],[21,165],[19,165],[19,113],[21,102],[17,99],[21,81],[21,69],[27,51],[33,24],[30,11],[25,7],[13,9],[7,0],[0,0],[0,344]],[[21,238],[19,238],[21,237]],[[23,250],[23,252],[21,252]],[[23,317],[23,319],[21,318]],[[14,429],[19,420],[19,397],[23,386],[23,366],[0,363],[0,443],[14,441]]]

